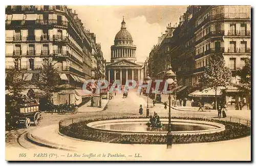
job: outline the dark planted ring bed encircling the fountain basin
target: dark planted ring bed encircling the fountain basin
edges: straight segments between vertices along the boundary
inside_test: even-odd
[[[130,119],[133,117],[123,117],[122,119]],[[135,117],[138,118],[138,117]],[[134,118],[134,119],[135,119]],[[145,118],[145,117],[139,117]],[[167,117],[161,117],[167,118]],[[62,134],[75,137],[76,139],[105,142],[105,143],[117,143],[117,144],[166,144],[166,135],[161,134],[126,134],[126,133],[113,133],[106,131],[93,130],[87,127],[86,124],[90,122],[100,120],[114,120],[120,118],[108,118],[108,119],[90,119],[79,123],[73,123],[66,127],[60,127],[59,131]],[[225,130],[217,133],[209,134],[196,134],[196,135],[173,135],[174,144],[188,144],[188,143],[206,143],[206,142],[217,142],[238,139],[240,137],[250,135],[250,127],[234,123],[225,122],[219,120],[209,120],[201,118],[177,118],[172,119],[186,119],[186,120],[201,120],[209,122],[217,122],[225,125]]]

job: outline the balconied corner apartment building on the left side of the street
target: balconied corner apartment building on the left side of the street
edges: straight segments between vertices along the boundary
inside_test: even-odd
[[[82,87],[92,76],[95,43],[67,6],[6,7],[7,73],[15,68],[33,80],[42,71],[42,64],[52,62],[63,84]]]

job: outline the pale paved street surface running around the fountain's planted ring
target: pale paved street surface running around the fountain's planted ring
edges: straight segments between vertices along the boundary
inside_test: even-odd
[[[163,104],[156,104],[155,107],[153,107],[153,103],[152,100],[149,99],[149,106],[150,106],[150,114],[153,114],[154,112],[157,112],[160,116],[168,116],[168,108],[164,109]],[[83,113],[78,113],[78,114],[65,114],[65,115],[58,115],[58,114],[42,114],[42,117],[44,119],[42,119],[41,124],[37,127],[31,126],[30,128],[26,129],[26,128],[22,128],[22,129],[18,129],[18,130],[13,130],[13,131],[7,131],[6,132],[6,148],[7,148],[7,153],[10,153],[11,151],[13,151],[14,149],[40,149],[43,151],[47,151],[49,148],[46,147],[39,147],[35,144],[32,144],[30,142],[28,142],[26,140],[26,134],[28,133],[28,131],[34,135],[40,136],[42,140],[46,140],[51,144],[54,144],[56,146],[63,146],[63,147],[73,147],[74,149],[78,150],[80,148],[83,149],[87,149],[87,152],[92,152],[95,150],[95,147],[100,146],[101,148],[103,148],[103,151],[109,150],[109,146],[111,147],[115,147],[118,149],[122,149],[122,152],[126,152],[129,151],[128,149],[133,147],[134,149],[136,149],[138,152],[143,153],[147,150],[150,150],[150,148],[153,147],[157,147],[157,148],[164,148],[164,145],[116,145],[116,144],[105,144],[105,143],[92,143],[92,142],[83,142],[83,141],[77,141],[77,140],[73,140],[73,139],[69,139],[67,137],[63,137],[61,135],[58,134],[58,122],[62,119],[65,118],[69,118],[69,117],[74,117],[74,118],[78,118],[78,117],[82,117],[82,116],[86,116],[86,115],[103,115],[103,114],[113,114],[113,113],[132,113],[132,114],[139,114],[139,105],[142,104],[143,105],[143,113],[145,115],[146,113],[146,96],[140,96],[136,90],[130,90],[128,97],[127,98],[123,98],[121,93],[117,93],[116,96],[114,96],[114,98],[112,100],[110,100],[108,102],[108,105],[106,106],[106,109],[101,111],[101,112],[83,112]],[[82,107],[81,107],[82,108]],[[80,108],[80,109],[81,109]],[[82,110],[81,110],[82,112]],[[182,111],[182,110],[175,110],[172,109],[173,113],[181,113],[181,114],[187,114],[187,113],[191,113],[190,111]],[[193,112],[194,114],[204,114],[204,115],[215,115],[215,112]],[[233,112],[228,112],[227,113],[228,116],[234,116],[234,117],[241,117],[241,118],[250,118],[250,112],[238,112],[238,111],[233,111]],[[191,145],[175,145],[175,149],[182,149],[182,148],[186,148],[187,150],[189,150],[188,148],[192,148],[193,146],[196,146],[197,148],[201,147],[201,148],[209,148],[212,150],[216,150],[216,147],[222,147],[223,145],[226,146],[226,148],[230,148],[233,146],[233,143],[236,143],[236,146],[234,147],[234,149],[239,149],[240,151],[249,151],[249,145],[250,145],[250,138],[244,138],[241,140],[231,140],[231,141],[226,141],[225,143],[223,142],[216,142],[216,143],[203,143],[203,144],[191,144]],[[239,143],[239,144],[237,144]],[[103,145],[103,146],[102,146]],[[211,146],[212,145],[212,146]],[[248,146],[242,146],[242,145],[248,145]],[[89,148],[92,147],[93,148]],[[87,147],[87,148],[86,148]],[[100,147],[98,147],[100,149]],[[71,149],[73,149],[71,148]],[[88,148],[90,149],[88,151]],[[98,149],[97,148],[97,149]],[[25,150],[24,149],[24,150]],[[93,150],[94,149],[94,150]],[[190,149],[190,151],[192,150]],[[233,150],[234,150],[233,149]],[[232,149],[230,151],[226,151],[226,153],[230,153],[232,151]],[[96,152],[96,151],[95,151]],[[121,152],[121,151],[120,151]],[[211,151],[212,152],[212,151]],[[170,152],[173,154],[173,152]],[[190,153],[190,152],[189,152]],[[201,152],[198,152],[201,153]],[[191,152],[191,154],[193,154],[193,152]],[[164,153],[164,155],[166,155]],[[173,154],[174,155],[174,154]],[[214,155],[214,154],[212,154]],[[176,154],[176,157],[178,156],[178,154]],[[145,156],[145,159],[149,157],[149,156]],[[157,156],[158,159],[166,159],[166,156]],[[175,160],[174,157],[173,159]],[[188,157],[188,156],[186,156]],[[190,155],[187,159],[190,159],[192,157],[198,158],[200,159],[200,157],[196,157],[195,155]],[[208,157],[208,158],[207,158]],[[242,156],[242,157],[248,157],[246,155]],[[156,156],[155,156],[156,158]],[[236,159],[237,158],[237,154],[232,154],[230,156],[230,159]],[[156,158],[157,159],[157,158]],[[207,154],[206,157],[204,157],[204,159],[212,159],[212,156],[210,156],[210,153]]]

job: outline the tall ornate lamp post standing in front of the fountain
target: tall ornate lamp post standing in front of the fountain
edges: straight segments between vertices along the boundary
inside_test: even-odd
[[[172,70],[172,66],[168,66],[168,71],[165,74],[166,76],[166,81],[168,83],[168,87],[169,90],[171,90],[173,87],[175,87],[177,85],[177,80],[176,80],[176,74],[173,72]],[[170,124],[171,120],[170,120],[170,99],[171,99],[171,94],[172,92],[169,93],[169,113],[168,113],[168,132],[167,132],[167,136],[166,136],[166,144],[167,144],[167,148],[171,148],[173,145],[173,135],[172,135],[172,126]]]

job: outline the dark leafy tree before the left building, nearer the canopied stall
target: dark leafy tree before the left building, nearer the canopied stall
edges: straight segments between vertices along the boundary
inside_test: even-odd
[[[52,102],[53,93],[57,91],[57,86],[60,84],[60,77],[54,65],[51,62],[42,64],[43,68],[36,82],[36,86],[40,90],[40,97],[45,98],[49,103]]]

